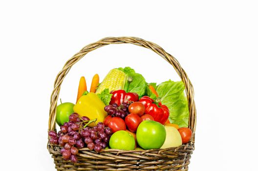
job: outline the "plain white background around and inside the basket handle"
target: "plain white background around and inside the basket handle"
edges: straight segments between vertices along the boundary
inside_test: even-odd
[[[172,54],[195,90],[197,129],[190,171],[254,171],[258,149],[258,5],[255,0],[0,1],[2,171],[55,171],[46,149],[50,94],[64,63],[88,43],[135,36]],[[131,66],[148,82],[179,80],[151,50],[130,44],[90,52],[65,78],[74,102],[90,85]]]

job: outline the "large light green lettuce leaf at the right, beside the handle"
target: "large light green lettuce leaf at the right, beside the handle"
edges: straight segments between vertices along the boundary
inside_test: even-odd
[[[159,84],[156,91],[161,98],[162,105],[170,110],[170,121],[179,127],[187,127],[189,119],[188,102],[184,95],[183,82],[171,80]]]

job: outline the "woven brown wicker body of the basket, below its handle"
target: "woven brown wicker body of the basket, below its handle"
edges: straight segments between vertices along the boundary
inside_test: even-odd
[[[65,161],[61,148],[48,145],[57,171],[188,171],[194,144],[155,150],[108,149],[100,153],[83,148],[77,155],[78,163]]]

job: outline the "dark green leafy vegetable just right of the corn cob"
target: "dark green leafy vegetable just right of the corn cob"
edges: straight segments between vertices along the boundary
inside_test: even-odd
[[[142,97],[143,95],[145,95],[145,89],[146,89],[147,83],[145,81],[145,78],[141,74],[135,73],[134,69],[130,67],[125,67],[125,68],[120,67],[117,69],[125,72],[127,75],[127,80],[124,87],[124,90],[126,92],[137,93],[139,97]]]

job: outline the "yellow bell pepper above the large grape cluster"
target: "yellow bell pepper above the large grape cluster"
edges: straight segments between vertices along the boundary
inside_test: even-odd
[[[96,123],[103,122],[108,115],[104,110],[105,104],[93,92],[83,95],[79,98],[76,105],[74,105],[74,112],[78,113],[81,117],[87,116],[90,120],[97,118]]]

